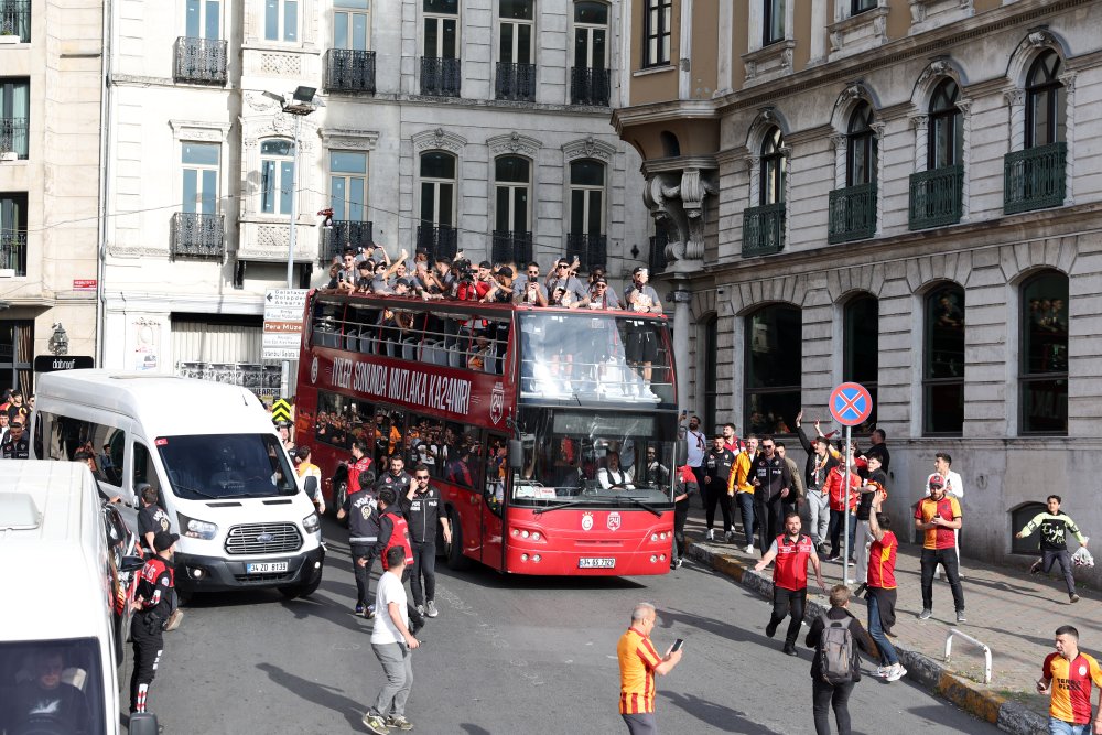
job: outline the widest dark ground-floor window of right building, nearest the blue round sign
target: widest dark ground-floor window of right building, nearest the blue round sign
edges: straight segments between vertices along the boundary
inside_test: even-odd
[[[789,434],[800,411],[802,315],[796,306],[764,306],[746,317],[746,432]]]

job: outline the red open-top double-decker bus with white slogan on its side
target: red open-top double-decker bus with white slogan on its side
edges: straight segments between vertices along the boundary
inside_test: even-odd
[[[669,571],[677,396],[663,316],[313,291],[299,366],[295,437],[328,507],[363,440],[378,473],[396,453],[429,467],[453,568]]]

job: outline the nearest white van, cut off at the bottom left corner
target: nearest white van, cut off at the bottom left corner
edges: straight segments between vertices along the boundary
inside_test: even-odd
[[[108,537],[87,467],[0,460],[0,733],[119,732],[126,633]],[[131,732],[156,732],[142,725]]]

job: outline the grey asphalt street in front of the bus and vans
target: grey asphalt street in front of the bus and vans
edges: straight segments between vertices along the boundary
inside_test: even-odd
[[[366,732],[360,716],[381,681],[372,624],[349,612],[346,532],[331,521],[324,530],[325,579],[311,598],[199,595],[165,635],[149,698],[165,733]],[[687,641],[681,664],[658,681],[662,732],[814,732],[802,639],[799,658],[784,656],[765,636],[768,604],[711,570],[687,563],[662,577],[572,580],[440,566],[441,615],[414,651],[414,732],[626,732],[616,641],[638,601],[658,606],[659,650]],[[851,712],[854,733],[867,735],[998,732],[906,681],[863,678]]]

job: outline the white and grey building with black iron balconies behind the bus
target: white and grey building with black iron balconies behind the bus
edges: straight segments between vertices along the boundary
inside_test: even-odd
[[[372,240],[544,269],[576,253],[614,278],[646,258],[640,160],[609,126],[618,2],[111,8],[108,365],[255,369],[292,199],[295,287]],[[300,86],[324,107],[296,151],[281,101]]]

